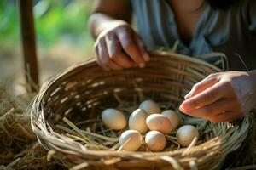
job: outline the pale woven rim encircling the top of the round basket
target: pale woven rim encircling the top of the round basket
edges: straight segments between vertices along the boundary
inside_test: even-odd
[[[154,51],[154,52],[150,52],[149,54],[161,55],[161,56],[166,56],[166,57],[172,55],[173,57],[180,59],[180,60],[187,60],[187,61],[193,62],[195,64],[207,65],[208,67],[212,68],[212,70],[222,71],[215,65],[210,65],[205,61],[202,61],[200,59],[195,59],[192,57],[188,57],[187,55],[184,55],[184,54],[169,54],[169,53],[165,53],[162,51]],[[43,115],[41,113],[40,116],[42,116],[42,117],[40,119],[43,119],[43,120],[40,120],[39,117],[35,116],[34,111],[38,111],[38,108],[44,107],[44,105],[42,104],[42,99],[44,98],[44,94],[49,90],[49,87],[51,87],[57,80],[59,80],[61,77],[63,77],[67,73],[69,73],[71,71],[75,71],[76,69],[78,69],[78,67],[82,67],[83,65],[96,65],[96,59],[95,58],[85,59],[84,61],[79,62],[76,65],[72,65],[72,66],[68,67],[67,70],[62,71],[60,74],[56,75],[55,77],[51,77],[48,81],[44,82],[42,88],[40,89],[40,92],[32,100],[31,105],[29,105],[28,110],[26,111],[28,113],[32,113],[31,114],[32,130],[34,133],[37,134],[39,142],[48,150],[49,150],[49,146],[48,147],[45,146],[44,142],[42,142],[42,139],[48,141],[48,144],[51,145],[51,148],[55,149],[55,150],[62,150],[61,148],[64,146],[59,145],[60,147],[57,147],[56,145],[51,143],[51,141],[50,141],[51,138],[57,138],[57,137],[55,136],[56,134],[55,135],[51,134],[48,131],[51,131],[51,130],[54,131],[54,128],[50,127],[48,122],[43,121],[43,120],[45,120],[44,113],[43,113]],[[40,105],[38,105],[38,104],[40,104]],[[38,130],[38,128],[35,124],[36,121],[42,123],[42,126],[44,127],[44,132],[42,132],[42,130],[41,131]],[[232,133],[236,133],[236,131],[239,131],[240,128],[244,128],[242,133],[247,133],[248,127],[249,127],[248,117],[245,117],[242,119],[241,125],[235,125],[232,128],[230,128],[230,130],[228,130],[226,134],[223,134],[216,138],[210,139],[203,144],[193,146],[193,148],[191,150],[196,150],[199,148],[201,148],[201,150],[212,150],[212,148],[214,148],[214,147],[225,149],[225,146],[229,146],[229,138],[230,138],[230,135],[232,135]],[[47,128],[49,128],[50,130],[47,130]],[[49,136],[45,136],[45,133],[48,133]],[[65,137],[65,138],[68,138],[68,137]],[[226,142],[226,143],[222,143],[222,142]],[[79,142],[77,142],[77,143],[78,143],[78,145],[77,145],[78,150],[74,150],[73,154],[79,153],[80,155],[83,155],[86,152],[86,155],[91,155],[91,156],[92,155],[93,156],[119,156],[119,157],[131,156],[131,157],[140,158],[143,160],[150,160],[152,157],[155,157],[155,156],[160,159],[161,156],[173,156],[175,154],[178,155],[178,154],[182,154],[186,150],[186,148],[183,148],[180,150],[168,151],[168,152],[139,152],[139,151],[117,152],[116,150],[82,150],[81,148],[79,149]],[[223,144],[223,145],[220,146],[220,144]],[[233,146],[233,147],[237,148],[239,146]],[[62,151],[65,152],[65,150],[62,150]],[[68,154],[68,152],[66,152],[66,153]]]

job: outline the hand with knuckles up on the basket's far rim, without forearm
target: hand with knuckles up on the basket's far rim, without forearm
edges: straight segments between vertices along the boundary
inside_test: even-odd
[[[123,20],[114,20],[108,25],[95,42],[98,64],[107,71],[144,67],[149,56],[137,33]]]

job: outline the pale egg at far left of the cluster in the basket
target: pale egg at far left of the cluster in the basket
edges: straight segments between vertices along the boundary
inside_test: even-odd
[[[126,127],[125,115],[116,109],[102,111],[102,122],[110,129],[121,130]]]

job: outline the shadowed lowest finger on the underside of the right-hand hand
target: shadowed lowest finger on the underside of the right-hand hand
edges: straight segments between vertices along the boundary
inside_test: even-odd
[[[189,116],[209,118],[212,116],[216,116],[223,111],[239,111],[239,107],[232,100],[219,99],[213,104],[205,105],[193,111],[184,111],[184,113]]]

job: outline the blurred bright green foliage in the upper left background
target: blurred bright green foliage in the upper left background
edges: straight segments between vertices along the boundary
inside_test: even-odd
[[[39,45],[46,47],[65,41],[77,47],[91,48],[93,43],[87,22],[92,0],[41,0],[34,3],[34,18]],[[15,1],[0,1],[0,44],[20,42],[19,10]]]

